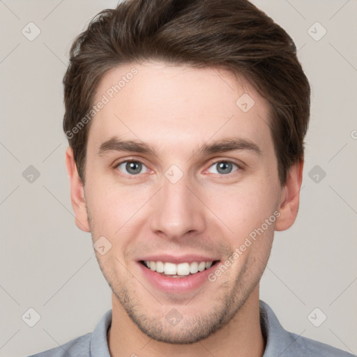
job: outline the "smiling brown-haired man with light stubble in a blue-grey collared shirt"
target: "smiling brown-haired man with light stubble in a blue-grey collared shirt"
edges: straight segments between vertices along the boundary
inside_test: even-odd
[[[259,301],[293,225],[310,86],[287,33],[246,0],[131,0],[73,44],[66,165],[112,310],[36,356],[351,356]]]

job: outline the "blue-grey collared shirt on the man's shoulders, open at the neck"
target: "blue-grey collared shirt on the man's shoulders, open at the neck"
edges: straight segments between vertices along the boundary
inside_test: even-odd
[[[259,301],[261,331],[266,340],[263,357],[353,357],[353,354],[284,330],[271,307]],[[110,357],[107,331],[112,310],[100,319],[93,333],[29,357]],[[132,352],[135,354],[135,351]],[[138,354],[139,356],[140,354]]]

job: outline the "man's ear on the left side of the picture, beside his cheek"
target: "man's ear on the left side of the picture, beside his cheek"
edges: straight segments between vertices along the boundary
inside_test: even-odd
[[[91,231],[88,214],[86,212],[86,202],[84,199],[84,187],[82,180],[79,179],[77,165],[73,156],[73,149],[68,147],[66,150],[66,167],[70,179],[70,200],[73,211],[75,211],[75,224],[82,231]]]

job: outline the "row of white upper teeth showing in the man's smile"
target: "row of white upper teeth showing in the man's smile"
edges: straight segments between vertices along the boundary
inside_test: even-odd
[[[213,264],[213,261],[193,261],[192,263],[162,263],[162,261],[144,261],[145,265],[152,271],[165,273],[167,275],[189,275],[195,274],[198,271],[204,271]]]

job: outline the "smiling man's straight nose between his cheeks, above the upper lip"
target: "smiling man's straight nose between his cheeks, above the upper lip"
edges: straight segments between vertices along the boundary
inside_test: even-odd
[[[176,183],[162,177],[162,188],[154,197],[151,229],[155,234],[180,240],[206,227],[205,206],[195,185],[185,175]]]

